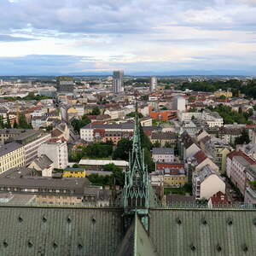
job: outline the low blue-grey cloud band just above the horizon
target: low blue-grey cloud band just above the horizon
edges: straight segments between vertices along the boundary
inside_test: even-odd
[[[221,57],[221,56],[218,56]],[[228,57],[228,56],[227,56]],[[205,58],[196,57],[198,64],[195,67],[194,61],[175,63],[168,61],[139,61],[139,62],[104,62],[108,67],[108,72],[116,67],[123,68],[125,73],[130,74],[192,74],[192,73],[215,73],[215,74],[256,74],[255,65],[242,66],[240,63],[230,65],[221,64],[214,60],[212,56]],[[22,57],[0,57],[0,75],[49,75],[49,74],[70,74],[70,73],[106,73],[106,69],[98,67],[96,61],[91,56],[74,56],[74,55],[26,55]]]

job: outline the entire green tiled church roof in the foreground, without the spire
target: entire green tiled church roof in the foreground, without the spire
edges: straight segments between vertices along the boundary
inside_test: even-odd
[[[149,232],[122,209],[0,206],[0,254],[216,256],[256,254],[256,211],[149,209]],[[126,233],[126,236],[125,236]],[[126,251],[125,251],[126,249]],[[124,253],[122,253],[124,252]],[[139,253],[139,254],[138,254]]]

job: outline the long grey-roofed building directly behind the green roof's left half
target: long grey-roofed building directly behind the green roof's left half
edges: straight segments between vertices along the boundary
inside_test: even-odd
[[[86,177],[53,178],[37,176],[31,168],[12,168],[0,174],[0,192],[36,195],[39,204],[83,204],[95,206],[99,187],[90,187]]]

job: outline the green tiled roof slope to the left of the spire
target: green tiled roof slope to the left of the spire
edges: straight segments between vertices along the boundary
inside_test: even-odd
[[[0,208],[0,255],[113,256],[122,239],[119,209]]]

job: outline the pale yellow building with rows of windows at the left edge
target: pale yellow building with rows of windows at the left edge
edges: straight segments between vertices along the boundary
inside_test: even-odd
[[[25,166],[25,149],[20,143],[7,143],[0,146],[0,172],[14,167]]]

